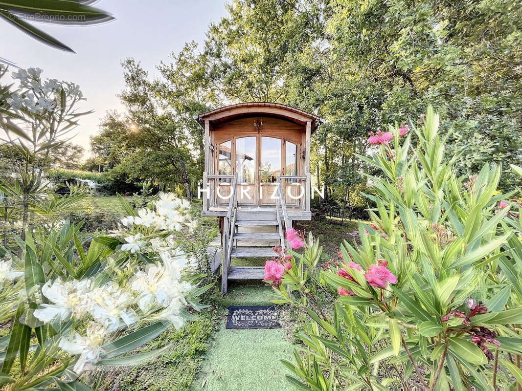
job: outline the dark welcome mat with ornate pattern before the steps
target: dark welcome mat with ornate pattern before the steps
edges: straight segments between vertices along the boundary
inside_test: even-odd
[[[227,328],[281,328],[281,324],[274,306],[230,306]]]

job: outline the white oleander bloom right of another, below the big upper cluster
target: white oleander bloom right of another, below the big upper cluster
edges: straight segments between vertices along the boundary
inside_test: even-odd
[[[134,297],[113,282],[90,292],[87,311],[108,332],[113,332],[124,324],[131,326],[139,320],[131,308],[133,303]]]

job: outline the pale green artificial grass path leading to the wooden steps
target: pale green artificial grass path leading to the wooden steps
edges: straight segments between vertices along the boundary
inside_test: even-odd
[[[265,391],[294,388],[284,375],[288,373],[281,359],[291,360],[293,346],[284,328],[226,329],[228,306],[269,306],[269,290],[261,282],[231,283],[220,300],[223,319],[220,330],[213,336],[199,376],[192,390],[206,391]]]

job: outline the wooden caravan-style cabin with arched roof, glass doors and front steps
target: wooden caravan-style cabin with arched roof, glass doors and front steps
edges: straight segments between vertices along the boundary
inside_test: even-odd
[[[310,137],[321,119],[279,103],[248,102],[194,117],[205,129],[203,216],[221,231],[222,291],[230,279],[262,279],[263,267],[232,258],[270,258],[284,230],[310,220]]]

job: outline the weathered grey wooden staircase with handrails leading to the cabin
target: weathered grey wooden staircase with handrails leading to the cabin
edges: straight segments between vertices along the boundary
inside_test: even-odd
[[[285,246],[283,231],[288,226],[286,204],[284,202],[281,180],[278,175],[279,199],[275,208],[256,208],[238,210],[235,204],[237,176],[232,183],[232,197],[227,216],[223,223],[223,249],[221,267],[221,292],[227,293],[229,280],[257,279],[264,277],[263,266],[230,266],[232,258],[265,258],[269,260],[277,253],[271,247]],[[242,233],[241,227],[251,232]],[[275,229],[274,229],[275,228]],[[270,231],[271,230],[271,231]],[[252,232],[254,231],[254,232]],[[238,246],[238,242],[248,241],[248,247]],[[259,241],[259,243],[257,243]],[[267,247],[266,243],[272,243]]]

